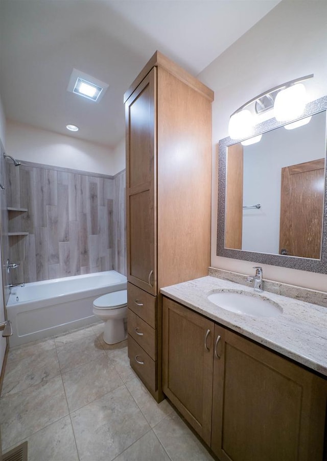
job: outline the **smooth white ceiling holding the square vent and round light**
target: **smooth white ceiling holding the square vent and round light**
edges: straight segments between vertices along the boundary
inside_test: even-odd
[[[279,1],[0,0],[6,117],[113,148],[123,94],[156,50],[196,76]],[[109,84],[99,103],[66,90],[74,67]]]

